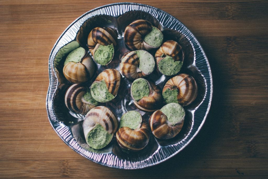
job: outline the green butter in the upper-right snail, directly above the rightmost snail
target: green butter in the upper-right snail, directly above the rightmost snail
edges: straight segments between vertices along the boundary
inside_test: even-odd
[[[158,64],[159,71],[164,75],[175,75],[177,74],[181,66],[183,65],[183,62],[181,61],[174,61],[174,59],[171,56],[166,56],[164,59],[162,59]]]

